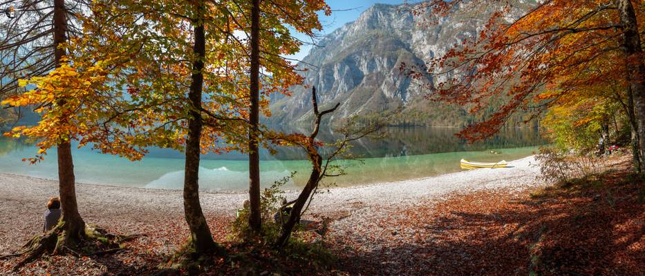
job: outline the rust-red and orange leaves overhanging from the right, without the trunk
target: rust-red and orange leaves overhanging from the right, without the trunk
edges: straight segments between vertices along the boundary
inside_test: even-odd
[[[468,127],[462,137],[490,137],[516,110],[539,113],[569,103],[557,101],[568,94],[595,97],[599,88],[624,85],[613,1],[547,1],[522,12],[504,1],[463,3],[428,1],[420,7],[443,15],[491,4],[498,8],[485,21],[471,18],[485,22],[476,40],[427,61],[428,68],[402,67],[413,79],[436,79],[428,87],[436,100],[479,111],[489,99],[502,99],[498,112]]]

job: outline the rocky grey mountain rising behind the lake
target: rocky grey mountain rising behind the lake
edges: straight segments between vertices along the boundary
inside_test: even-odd
[[[514,14],[534,3],[516,0]],[[404,77],[400,65],[422,64],[445,54],[465,37],[477,34],[496,7],[465,4],[437,24],[427,23],[428,12],[413,15],[410,8],[371,6],[356,21],[321,39],[299,63],[299,68],[306,69],[304,84],[317,88],[323,107],[341,104],[330,121],[393,114],[394,124],[399,125],[464,126],[478,119],[460,107],[424,99],[427,91],[419,84],[433,80]],[[291,97],[279,95],[272,100],[269,123],[307,123],[312,117],[310,90],[303,86],[293,88]]]

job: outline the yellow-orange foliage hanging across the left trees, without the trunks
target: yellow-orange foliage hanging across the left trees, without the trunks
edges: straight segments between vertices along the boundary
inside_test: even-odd
[[[207,32],[202,149],[243,149],[250,63],[243,36],[249,28],[249,6],[233,1],[206,5],[209,12],[200,19]],[[270,115],[270,94],[288,93],[303,81],[282,57],[301,45],[285,24],[312,34],[321,28],[317,11],[329,13],[330,8],[321,0],[262,1],[262,5],[266,28],[261,35],[265,74],[261,108]],[[39,124],[5,135],[35,138],[42,142],[41,150],[59,141],[80,140],[80,146],[92,144],[101,152],[129,159],[142,158],[147,146],[180,149],[185,143],[187,88],[195,59],[192,3],[106,0],[95,2],[91,9],[91,16],[79,14],[82,35],[64,46],[68,57],[62,66],[45,77],[20,80],[30,90],[2,101],[35,108],[41,115]]]

